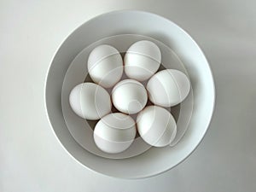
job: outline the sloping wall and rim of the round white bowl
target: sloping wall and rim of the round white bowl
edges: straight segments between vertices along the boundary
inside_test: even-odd
[[[193,88],[193,113],[186,133],[175,146],[149,148],[144,150],[143,154],[115,159],[92,153],[88,148],[94,148],[93,143],[91,146],[83,146],[78,142],[78,138],[74,137],[76,133],[67,126],[68,121],[71,120],[70,123],[74,118],[72,114],[67,113],[69,107],[65,102],[65,96],[67,97],[68,91],[65,90],[67,86],[63,87],[63,82],[71,63],[78,60],[79,53],[83,52],[84,48],[101,39],[127,33],[147,36],[162,42],[183,61]],[[151,177],[177,166],[193,152],[204,137],[212,118],[214,100],[215,89],[211,69],[205,55],[189,34],[159,15],[133,10],[100,15],[79,26],[56,52],[45,84],[45,104],[49,122],[62,146],[84,167],[112,177]],[[84,125],[87,126],[84,129],[88,130],[89,125]],[[83,128],[79,129],[84,131]],[[77,135],[80,136],[79,139],[84,137],[84,141],[90,139],[89,134],[83,136],[79,132]]]

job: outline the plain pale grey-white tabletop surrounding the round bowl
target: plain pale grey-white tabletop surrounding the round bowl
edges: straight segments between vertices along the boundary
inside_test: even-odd
[[[254,8],[253,1],[2,1],[0,191],[101,191],[101,186],[118,192],[253,192]],[[113,9],[143,9],[173,20],[201,45],[212,66],[217,101],[207,136],[188,160],[157,177],[129,181],[81,169],[55,140],[43,113],[45,74],[63,38]]]

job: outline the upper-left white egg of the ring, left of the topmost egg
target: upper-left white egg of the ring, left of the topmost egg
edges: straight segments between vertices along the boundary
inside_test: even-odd
[[[123,60],[119,51],[108,44],[97,46],[88,57],[88,72],[96,84],[112,87],[123,74]]]

